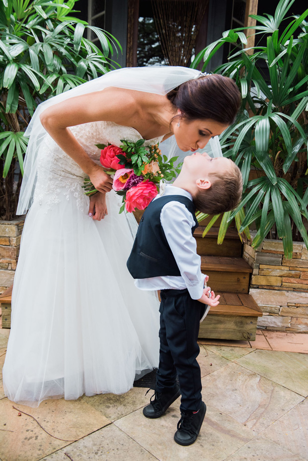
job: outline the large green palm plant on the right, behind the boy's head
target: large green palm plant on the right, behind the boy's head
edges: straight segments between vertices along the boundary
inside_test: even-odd
[[[239,117],[222,134],[221,143],[224,155],[241,169],[244,193],[236,210],[223,216],[218,243],[235,217],[244,238],[250,239],[251,226],[256,228],[252,247],[268,235],[278,237],[288,259],[294,240],[303,239],[308,246],[308,10],[286,18],[293,3],[280,0],[274,17],[252,16],[257,20],[255,35],[266,38],[266,45],[255,46],[253,54],[244,48],[245,28],[240,28],[224,32],[192,64],[197,67],[203,59],[205,68],[223,44],[236,47],[229,62],[215,72],[235,79],[242,95]],[[251,168],[257,177],[249,180]],[[198,219],[204,217],[200,214]],[[217,218],[211,219],[205,233]]]

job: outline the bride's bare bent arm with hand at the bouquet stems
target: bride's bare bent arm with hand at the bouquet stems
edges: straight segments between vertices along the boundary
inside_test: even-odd
[[[89,176],[94,187],[105,193],[111,190],[112,179],[87,155],[68,127],[102,120],[132,126],[135,116],[134,99],[127,96],[123,100],[117,88],[108,88],[55,104],[41,114],[40,120],[56,143]]]

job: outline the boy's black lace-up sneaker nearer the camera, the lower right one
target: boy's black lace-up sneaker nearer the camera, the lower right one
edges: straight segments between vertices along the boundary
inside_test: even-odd
[[[196,441],[205,413],[206,404],[204,402],[201,402],[198,413],[181,413],[181,419],[177,423],[177,431],[174,434],[174,440],[177,444],[191,445]]]

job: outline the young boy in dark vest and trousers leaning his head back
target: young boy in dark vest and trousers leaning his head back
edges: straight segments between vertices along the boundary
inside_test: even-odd
[[[143,413],[158,418],[181,394],[181,419],[174,434],[180,445],[195,442],[205,416],[197,338],[206,305],[217,306],[220,298],[204,288],[208,277],[201,273],[196,253],[195,210],[231,210],[241,192],[241,174],[230,159],[198,152],[185,157],[173,185],[145,210],[127,262],[138,288],[161,290],[156,390]]]

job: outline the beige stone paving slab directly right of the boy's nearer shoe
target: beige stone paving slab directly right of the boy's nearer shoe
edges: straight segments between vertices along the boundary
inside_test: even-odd
[[[202,387],[208,407],[228,414],[255,434],[303,400],[301,395],[236,363],[203,378]]]

